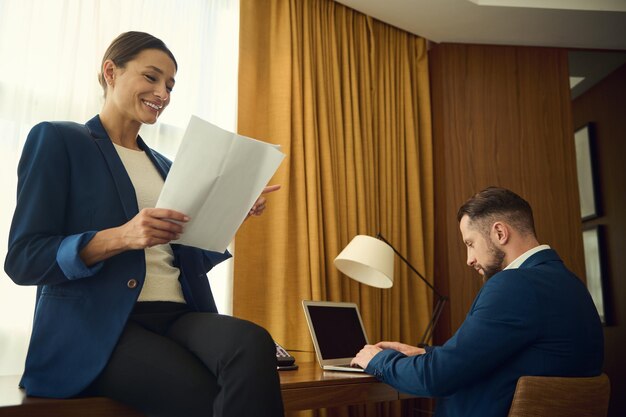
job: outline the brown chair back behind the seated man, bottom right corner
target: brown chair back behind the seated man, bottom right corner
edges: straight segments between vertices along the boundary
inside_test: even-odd
[[[606,417],[611,386],[606,374],[590,378],[523,376],[509,417]]]

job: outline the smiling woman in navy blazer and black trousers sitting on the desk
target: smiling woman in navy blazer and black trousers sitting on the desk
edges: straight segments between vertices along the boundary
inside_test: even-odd
[[[218,314],[206,277],[230,253],[176,242],[190,218],[156,206],[172,162],[139,129],[169,103],[174,55],[128,31],[102,62],[100,113],[38,123],[20,157],[5,271],[37,286],[20,385],[150,416],[282,416],[271,336]]]

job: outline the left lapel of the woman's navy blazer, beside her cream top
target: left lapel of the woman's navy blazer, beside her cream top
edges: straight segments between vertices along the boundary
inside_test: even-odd
[[[139,212],[139,208],[137,206],[137,195],[135,194],[135,188],[133,187],[132,182],[124,168],[124,164],[120,159],[115,147],[113,146],[113,142],[111,142],[111,138],[107,134],[104,126],[102,126],[102,122],[100,122],[100,117],[95,116],[93,119],[89,120],[86,124],[89,133],[94,138],[94,142],[100,148],[102,152],[102,156],[106,161],[109,171],[111,173],[111,177],[115,182],[115,186],[117,188],[117,192],[119,194],[120,200],[122,202],[122,206],[124,207],[124,213],[126,217],[130,220]]]

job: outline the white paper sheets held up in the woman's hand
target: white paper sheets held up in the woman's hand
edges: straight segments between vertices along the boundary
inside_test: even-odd
[[[191,218],[174,243],[224,252],[284,157],[192,116],[156,204]]]

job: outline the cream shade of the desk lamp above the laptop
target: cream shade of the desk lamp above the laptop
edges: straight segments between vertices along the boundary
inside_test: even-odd
[[[377,288],[393,285],[393,249],[372,236],[357,235],[335,258],[335,266],[350,278]]]

